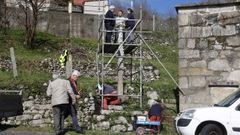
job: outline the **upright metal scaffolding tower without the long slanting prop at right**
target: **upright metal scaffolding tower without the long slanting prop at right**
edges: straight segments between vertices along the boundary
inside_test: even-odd
[[[100,11],[100,0],[99,0],[99,11]],[[142,9],[142,8],[141,8]],[[104,12],[104,11],[103,11]],[[142,10],[140,10],[142,12]],[[142,66],[142,60],[143,60],[143,52],[142,52],[142,41],[139,40],[138,37],[134,38],[135,42],[128,43],[127,40],[130,37],[131,34],[135,33],[134,35],[142,34],[142,13],[140,13],[140,19],[127,19],[128,21],[135,21],[135,26],[131,30],[123,30],[122,32],[126,33],[125,39],[123,39],[123,42],[121,43],[106,43],[105,42],[105,36],[107,32],[113,32],[116,33],[116,30],[106,30],[104,26],[104,20],[115,20],[115,19],[109,19],[104,17],[105,13],[99,14],[98,19],[98,49],[96,53],[96,64],[97,64],[97,76],[98,76],[98,84],[101,84],[103,87],[103,84],[105,84],[105,77],[107,75],[107,68],[109,67],[110,63],[114,61],[114,59],[123,59],[123,63],[125,59],[130,59],[131,61],[131,73],[127,76],[130,76],[130,83],[133,84],[133,75],[139,74],[139,78],[137,79],[137,83],[139,85],[139,92],[134,94],[126,94],[122,90],[122,94],[118,93],[118,97],[132,97],[132,98],[139,98],[140,107],[142,108],[142,94],[143,94],[143,66]],[[136,31],[135,29],[137,27],[139,28],[139,31]],[[136,42],[139,40],[139,42]],[[120,50],[123,50],[124,53],[122,56],[119,56],[118,53]],[[138,51],[138,56],[133,55]],[[132,73],[132,61],[137,60],[139,62],[139,68],[138,71],[135,73]],[[108,61],[107,61],[108,60]],[[107,61],[107,62],[106,62]],[[119,65],[118,65],[119,66]],[[119,68],[117,68],[119,70]],[[121,70],[121,69],[120,69]],[[125,76],[125,75],[124,75]],[[123,83],[123,82],[122,82]],[[119,92],[119,90],[118,90]],[[103,97],[105,96],[103,93],[99,93],[102,99],[102,107],[103,107]]]

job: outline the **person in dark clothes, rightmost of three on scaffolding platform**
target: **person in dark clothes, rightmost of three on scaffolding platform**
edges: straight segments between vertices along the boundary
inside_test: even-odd
[[[128,15],[127,15],[127,21],[126,21],[126,29],[130,32],[134,26],[135,26],[135,19],[134,14],[133,14],[133,10],[131,8],[127,9]],[[128,43],[132,43],[134,40],[134,31],[130,34],[129,38],[127,39]]]

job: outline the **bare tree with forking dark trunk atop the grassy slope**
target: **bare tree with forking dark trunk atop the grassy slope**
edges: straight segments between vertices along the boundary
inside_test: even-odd
[[[23,17],[19,17],[25,27],[25,44],[33,49],[33,41],[36,35],[38,16],[47,0],[18,0],[20,9],[23,11]]]

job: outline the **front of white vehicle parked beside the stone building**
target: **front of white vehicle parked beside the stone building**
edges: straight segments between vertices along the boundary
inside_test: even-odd
[[[181,135],[240,135],[240,91],[211,107],[180,112],[175,127]]]

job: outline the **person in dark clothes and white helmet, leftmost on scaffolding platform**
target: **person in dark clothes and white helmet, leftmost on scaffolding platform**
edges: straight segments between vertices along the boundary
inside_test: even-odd
[[[114,9],[115,9],[115,6],[111,5],[105,15],[105,20],[104,20],[105,29],[107,31],[111,31],[106,33],[106,37],[105,37],[106,43],[111,43],[111,40],[112,40],[112,34],[113,34],[112,30],[114,30],[115,23],[116,23],[114,20],[115,19],[115,16],[113,13]]]

